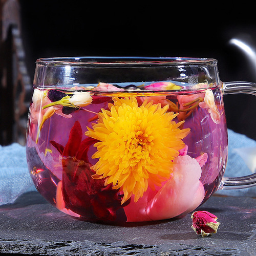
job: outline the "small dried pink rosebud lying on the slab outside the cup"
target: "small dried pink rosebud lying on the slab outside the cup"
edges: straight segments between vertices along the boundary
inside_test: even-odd
[[[218,218],[214,214],[204,210],[193,212],[191,219],[193,220],[191,228],[197,234],[201,234],[202,237],[211,236],[211,234],[216,233],[220,225],[216,221]]]

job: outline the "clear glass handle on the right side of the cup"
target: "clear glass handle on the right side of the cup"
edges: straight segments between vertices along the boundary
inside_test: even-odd
[[[223,94],[248,93],[256,96],[256,83],[223,82]],[[238,189],[256,185],[256,173],[242,177],[223,177],[219,189]]]

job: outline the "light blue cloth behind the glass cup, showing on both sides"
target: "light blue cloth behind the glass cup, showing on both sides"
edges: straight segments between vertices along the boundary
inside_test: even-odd
[[[245,176],[255,172],[256,141],[231,130],[228,130],[228,141],[229,151],[225,177]],[[13,203],[17,197],[31,190],[36,190],[36,188],[28,171],[25,146],[18,143],[8,146],[0,145],[0,205]],[[255,197],[256,186],[223,189],[217,191],[217,194]]]

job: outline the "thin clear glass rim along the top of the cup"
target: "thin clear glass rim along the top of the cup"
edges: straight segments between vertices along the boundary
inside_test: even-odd
[[[138,57],[138,56],[82,56],[39,58],[36,65],[74,67],[122,67],[122,66],[178,66],[217,65],[215,58],[197,57]]]

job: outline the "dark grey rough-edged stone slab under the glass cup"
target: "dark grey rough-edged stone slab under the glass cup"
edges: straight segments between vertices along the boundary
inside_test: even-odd
[[[0,252],[40,255],[256,255],[256,199],[213,196],[200,210],[218,232],[198,236],[190,214],[151,223],[106,225],[63,214],[37,192],[0,206]]]

